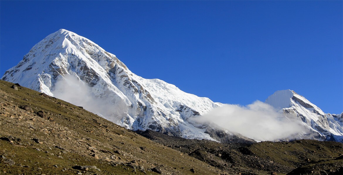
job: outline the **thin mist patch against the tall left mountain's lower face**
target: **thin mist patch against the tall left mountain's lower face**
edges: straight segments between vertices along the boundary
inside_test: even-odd
[[[119,120],[128,111],[127,105],[120,100],[95,96],[88,84],[73,75],[65,75],[59,79],[52,93],[56,98],[82,106],[85,110],[115,123],[120,123]]]

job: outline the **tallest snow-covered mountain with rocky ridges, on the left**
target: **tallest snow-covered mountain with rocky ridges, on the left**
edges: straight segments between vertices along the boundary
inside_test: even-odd
[[[37,43],[18,65],[5,72],[2,79],[57,96],[66,90],[64,85],[72,82],[68,77],[90,86],[92,95],[86,93],[83,96],[96,97],[97,99],[92,99],[96,103],[106,101],[100,108],[109,113],[90,111],[99,112],[108,120],[128,129],[151,129],[194,139],[230,141],[232,138],[235,141],[252,141],[239,134],[188,121],[189,117],[207,113],[214,107],[221,106],[221,103],[183,92],[159,79],[144,79],[135,75],[115,55],[64,29]],[[65,82],[58,86],[61,81]],[[70,85],[67,89],[75,88],[78,90],[67,96],[82,91],[80,86]],[[82,101],[74,104],[83,104]],[[87,109],[87,106],[83,107]]]

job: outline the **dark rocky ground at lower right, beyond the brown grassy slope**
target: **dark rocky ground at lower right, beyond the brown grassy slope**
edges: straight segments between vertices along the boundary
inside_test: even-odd
[[[342,174],[343,144],[316,140],[225,144],[152,130],[141,135],[231,174]]]

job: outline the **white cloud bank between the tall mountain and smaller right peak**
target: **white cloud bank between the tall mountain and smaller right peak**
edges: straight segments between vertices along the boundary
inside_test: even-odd
[[[192,120],[200,123],[212,122],[256,141],[292,139],[297,133],[305,131],[299,120],[286,117],[261,101],[247,106],[225,104]]]

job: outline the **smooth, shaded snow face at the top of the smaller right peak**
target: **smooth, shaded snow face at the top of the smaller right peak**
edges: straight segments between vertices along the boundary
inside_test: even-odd
[[[265,103],[272,105],[276,109],[291,107],[291,99],[295,92],[292,90],[278,90],[265,100]]]

